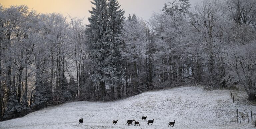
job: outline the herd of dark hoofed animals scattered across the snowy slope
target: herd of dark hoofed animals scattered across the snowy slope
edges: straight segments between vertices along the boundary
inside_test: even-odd
[[[142,120],[144,120],[144,121],[146,120],[146,121],[147,121],[147,116],[146,116],[146,117],[145,117],[145,116],[141,117],[140,121],[142,121]],[[148,122],[147,125],[149,125],[149,123],[151,123],[151,125],[153,125],[154,120],[155,120],[155,119],[153,119],[153,120],[148,120],[148,121],[147,121],[147,122]],[[118,120],[113,120],[112,125],[116,125],[117,121],[118,121]],[[134,126],[135,126],[136,124],[137,124],[137,126],[140,126],[139,122],[138,122],[138,121],[135,121],[134,119],[133,119],[133,120],[127,120],[126,124],[128,123],[128,126],[129,126],[130,124],[133,125],[133,124],[132,124],[133,121],[134,121]],[[83,118],[79,120],[79,125],[80,125],[80,123],[81,123],[81,125],[83,125]],[[175,123],[175,120],[174,120],[174,122],[169,122],[168,127],[169,127],[170,125],[171,125],[171,127],[174,127],[174,123]],[[125,124],[125,125],[126,125],[126,124]]]

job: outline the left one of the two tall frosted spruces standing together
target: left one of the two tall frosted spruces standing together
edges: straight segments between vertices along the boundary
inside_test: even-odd
[[[87,25],[87,37],[89,40],[90,58],[92,66],[95,70],[92,78],[95,82],[99,81],[101,90],[101,99],[105,98],[105,81],[106,75],[110,74],[106,67],[109,65],[107,57],[110,54],[111,44],[107,37],[107,2],[106,0],[93,0],[91,2],[96,7],[92,7],[91,17],[88,18],[90,22]]]

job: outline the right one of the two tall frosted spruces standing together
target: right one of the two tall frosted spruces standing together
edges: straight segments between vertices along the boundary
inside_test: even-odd
[[[113,48],[111,50],[111,54],[108,57],[110,61],[110,84],[112,86],[112,100],[114,99],[114,86],[117,85],[117,96],[118,98],[121,97],[120,86],[119,82],[121,80],[121,76],[123,75],[123,68],[122,68],[122,60],[121,60],[121,52],[120,46],[122,44],[122,29],[123,29],[123,20],[124,20],[124,11],[120,9],[120,5],[116,0],[109,0],[108,2],[108,22],[107,22],[107,33],[109,38],[109,44]]]

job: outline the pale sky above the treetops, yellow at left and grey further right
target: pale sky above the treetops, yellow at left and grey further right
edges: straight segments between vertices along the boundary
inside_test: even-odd
[[[88,17],[93,6],[91,0],[0,0],[0,4],[4,7],[10,5],[27,5],[30,9],[36,10],[38,13],[62,13],[64,16],[85,18],[84,23],[88,24]],[[121,8],[125,10],[125,17],[129,14],[135,15],[144,20],[148,20],[153,12],[160,12],[164,3],[173,0],[118,0]],[[190,0],[192,7],[199,0]]]

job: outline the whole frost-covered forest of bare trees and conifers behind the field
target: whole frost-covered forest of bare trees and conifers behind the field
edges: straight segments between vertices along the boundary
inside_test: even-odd
[[[186,84],[238,85],[256,100],[255,0],[170,0],[149,20],[91,3],[89,24],[0,4],[0,120]]]

